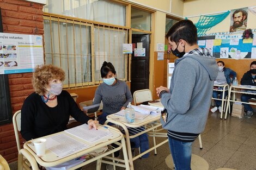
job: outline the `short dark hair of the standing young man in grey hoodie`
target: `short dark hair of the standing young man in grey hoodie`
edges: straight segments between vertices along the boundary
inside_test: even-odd
[[[166,38],[176,44],[182,39],[194,45],[197,43],[197,27],[190,20],[180,20],[169,29]]]

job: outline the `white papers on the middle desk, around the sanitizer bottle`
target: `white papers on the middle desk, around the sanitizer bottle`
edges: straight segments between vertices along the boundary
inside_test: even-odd
[[[148,115],[152,114],[152,115],[160,115],[160,112],[162,111],[162,108],[156,107],[156,106],[150,106],[150,105],[132,105],[132,108],[135,110],[135,118],[142,120],[145,117],[147,117]],[[125,110],[121,110],[117,113],[115,113],[115,115],[118,116],[125,116]]]

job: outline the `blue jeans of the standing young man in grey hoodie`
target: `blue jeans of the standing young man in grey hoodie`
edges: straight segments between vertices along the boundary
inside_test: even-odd
[[[191,170],[190,165],[193,142],[181,142],[170,137],[168,138],[175,170]]]

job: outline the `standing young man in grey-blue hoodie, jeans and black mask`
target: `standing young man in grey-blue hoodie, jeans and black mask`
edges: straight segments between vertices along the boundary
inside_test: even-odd
[[[218,67],[209,50],[197,45],[197,28],[192,21],[175,23],[166,38],[179,59],[170,89],[156,88],[166,109],[161,123],[168,130],[175,170],[190,170],[192,143],[205,128]]]

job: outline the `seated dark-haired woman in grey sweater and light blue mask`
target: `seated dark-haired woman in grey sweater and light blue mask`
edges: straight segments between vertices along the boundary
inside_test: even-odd
[[[111,62],[104,61],[100,69],[101,78],[103,83],[100,84],[95,92],[93,104],[103,103],[102,114],[97,119],[100,124],[104,124],[107,120],[107,116],[114,114],[127,107],[129,102],[132,102],[132,95],[129,87],[125,81],[116,78],[116,72]],[[98,108],[89,109],[88,112],[95,112]],[[87,111],[85,111],[87,112]],[[132,139],[133,140],[133,139]],[[141,152],[144,152],[149,148],[148,135],[143,134],[138,138],[131,140],[131,147],[137,148],[137,144],[141,147]],[[139,141],[138,141],[139,140]],[[143,145],[143,147],[142,147]],[[145,154],[142,157],[147,158],[149,155]],[[119,152],[115,152],[115,157],[119,156]],[[112,165],[107,165],[107,169],[112,169]]]

